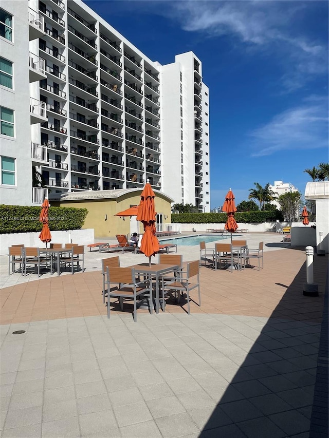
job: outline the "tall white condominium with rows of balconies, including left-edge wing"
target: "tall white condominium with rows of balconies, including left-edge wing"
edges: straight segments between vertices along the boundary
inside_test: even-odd
[[[209,211],[208,89],[192,52],[161,66],[80,0],[0,0],[0,45],[2,203],[149,179]]]

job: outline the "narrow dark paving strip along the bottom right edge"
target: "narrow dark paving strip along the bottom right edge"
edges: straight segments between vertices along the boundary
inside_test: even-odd
[[[323,319],[320,333],[320,345],[314,401],[310,420],[309,438],[328,438],[328,273],[324,291]]]

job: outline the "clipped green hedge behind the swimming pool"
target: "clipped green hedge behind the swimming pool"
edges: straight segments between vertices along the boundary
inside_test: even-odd
[[[237,212],[235,213],[236,222],[240,223],[263,223],[275,222],[283,220],[280,211],[252,211],[252,212]],[[227,220],[226,213],[180,213],[172,214],[172,223],[225,223]]]

